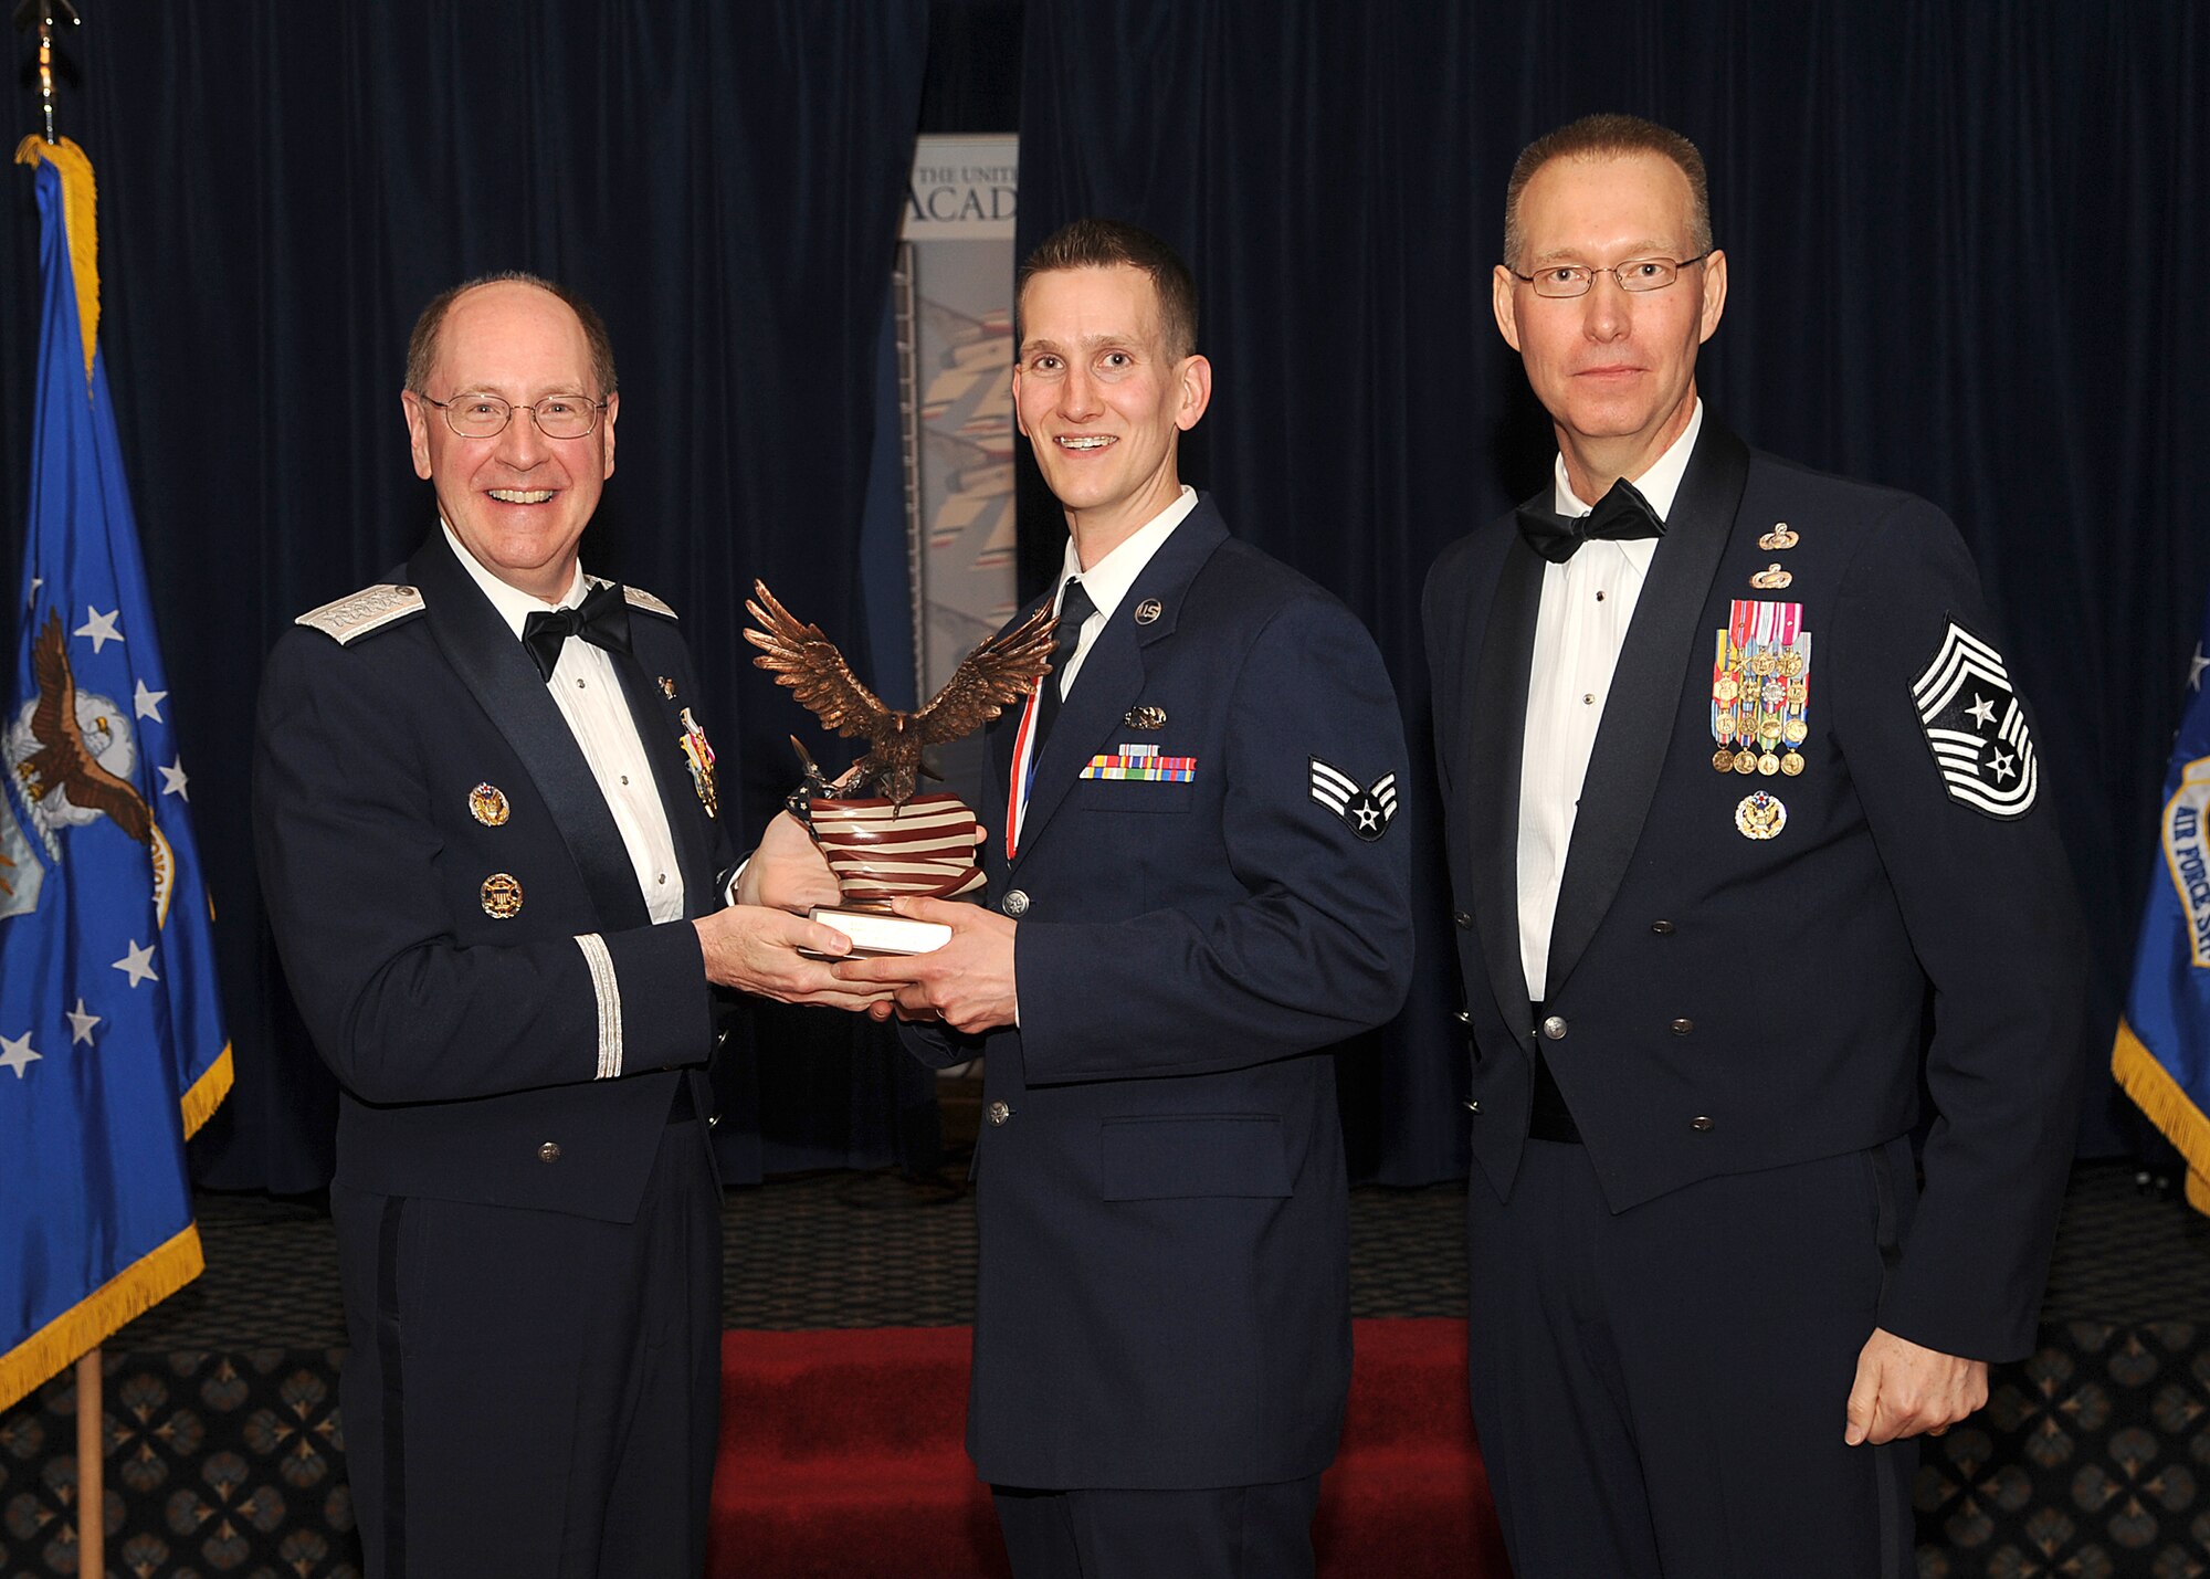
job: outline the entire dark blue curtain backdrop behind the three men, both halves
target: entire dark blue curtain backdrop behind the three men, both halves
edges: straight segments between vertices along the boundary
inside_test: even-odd
[[[917,124],[1019,126],[1023,243],[1116,212],[1189,252],[1220,374],[1191,471],[1242,535],[1372,624],[1421,741],[1428,562],[1529,493],[1549,453],[1487,316],[1512,157],[1591,108],[1695,137],[1733,259],[1706,394],[1753,442],[1925,493],[1974,542],[2095,924],[2100,1046],[2082,1057],[2106,1055],[2210,586],[2210,391],[2190,376],[2210,349],[2201,7],[86,11],[62,124],[102,177],[104,347],[239,1062],[203,1179],[298,1190],[325,1168],[327,1077],[283,1002],[248,854],[252,692],[283,621],[427,526],[396,402],[415,307],[526,265],[606,310],[625,422],[588,553],[685,610],[720,701],[709,728],[758,816],[796,714],[745,663],[738,593],[765,575],[860,646],[875,330]],[[24,285],[0,303],[4,564],[22,544],[35,245],[18,179],[0,201]],[[1030,473],[1028,588],[1059,533]],[[1443,916],[1439,882],[1423,916]],[[1423,944],[1406,1017],[1344,1057],[1361,1172],[1463,1170],[1456,991]],[[860,1028],[804,1015],[756,1048],[732,1099],[765,1139],[740,1172],[926,1150],[926,1081]],[[2130,1139],[2093,1117],[2102,1148]]]

